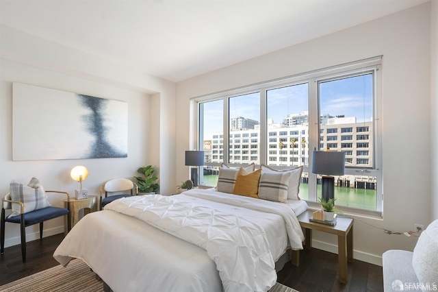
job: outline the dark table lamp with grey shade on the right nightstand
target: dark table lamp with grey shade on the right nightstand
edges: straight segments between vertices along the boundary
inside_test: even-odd
[[[345,153],[337,151],[313,151],[312,173],[322,175],[322,199],[328,201],[335,197],[335,178],[344,175]]]

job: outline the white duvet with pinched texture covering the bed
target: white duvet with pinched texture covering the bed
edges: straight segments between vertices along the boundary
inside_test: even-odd
[[[304,238],[294,211],[286,204],[211,191],[189,191],[183,195],[173,197],[146,195],[120,199],[108,204],[105,211],[99,212],[102,214],[99,217],[102,217],[105,213],[110,217],[118,217],[115,213],[113,216],[112,212],[146,221],[155,228],[202,247],[216,263],[216,269],[219,271],[220,280],[222,280],[225,291],[267,291],[270,289],[276,282],[274,261],[285,251],[288,239],[292,248],[300,249]],[[146,291],[148,289],[154,291],[151,289],[151,287],[154,287],[151,283],[155,282],[159,283],[157,287],[163,291],[179,291],[179,289],[182,289],[181,291],[218,290],[217,284],[214,284],[216,276],[211,272],[214,267],[210,267],[207,260],[202,258],[201,255],[188,256],[190,260],[193,258],[192,262],[196,263],[198,261],[196,266],[202,267],[205,265],[206,268],[203,268],[203,271],[191,271],[190,265],[187,266],[186,270],[190,274],[190,278],[182,279],[188,282],[190,286],[184,289],[178,284],[169,282],[169,277],[175,278],[175,282],[177,280],[182,281],[175,274],[177,268],[168,267],[170,275],[163,276],[162,272],[164,271],[159,267],[161,259],[155,260],[155,253],[144,256],[141,248],[143,243],[140,244],[139,242],[137,244],[131,242],[131,239],[119,239],[120,236],[128,236],[125,235],[127,232],[121,229],[120,236],[110,234],[107,242],[107,244],[116,245],[118,249],[120,249],[120,246],[125,245],[127,250],[125,256],[114,254],[120,265],[129,263],[128,266],[141,266],[142,269],[145,269],[146,264],[143,262],[146,261],[149,266],[154,263],[154,267],[149,268],[156,268],[158,271],[155,276],[151,276],[154,273],[150,271],[142,273],[145,280],[138,278],[137,273],[131,273],[131,277],[125,274],[118,275],[118,280],[114,280],[116,273],[110,267],[101,264],[101,262],[105,262],[102,258],[90,252],[90,247],[86,246],[90,243],[83,243],[82,248],[75,246],[78,243],[81,244],[81,241],[77,238],[79,234],[74,235],[75,230],[79,230],[79,226],[81,226],[81,236],[84,236],[83,233],[87,232],[85,230],[92,230],[92,224],[89,223],[90,228],[81,224],[90,221],[92,215],[95,216],[92,213],[79,221],[77,226],[64,239],[65,243],[63,241],[55,251],[54,256],[62,265],[66,265],[72,256],[83,258],[115,291]],[[132,224],[138,226],[136,222]],[[150,228],[148,229],[150,235],[152,233],[157,234],[155,231],[151,232]],[[94,228],[94,232],[96,230],[99,230],[99,228]],[[133,232],[128,233],[129,237],[132,237]],[[99,243],[97,244],[99,246],[105,247],[100,242],[105,241],[103,234],[99,234],[99,236],[90,234],[90,236],[94,236],[94,241],[98,239]],[[102,239],[100,239],[101,236]],[[138,239],[141,240],[142,236]],[[149,244],[146,243],[146,246],[149,246]],[[181,246],[181,243],[178,246]],[[114,252],[117,248],[114,247],[112,251]],[[139,263],[136,263],[137,259],[134,259],[136,258],[134,256],[136,252],[138,252]],[[160,251],[158,250],[157,253],[159,254]],[[165,255],[167,253],[162,252]],[[174,257],[174,255],[170,256]],[[185,254],[182,256],[182,261],[188,260],[188,258],[184,258],[186,257]],[[126,260],[127,263],[125,263],[125,258],[130,258],[130,260]],[[113,259],[108,258],[108,261],[111,260]],[[166,258],[163,260],[166,260]],[[190,263],[189,260],[188,263]],[[193,269],[196,269],[196,266]],[[177,273],[183,274],[183,269],[184,267]],[[166,271],[166,269],[164,270]],[[193,273],[196,274],[192,275]]]

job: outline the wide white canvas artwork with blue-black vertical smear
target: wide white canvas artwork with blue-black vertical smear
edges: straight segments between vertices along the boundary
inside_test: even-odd
[[[13,83],[13,160],[127,156],[126,102]]]

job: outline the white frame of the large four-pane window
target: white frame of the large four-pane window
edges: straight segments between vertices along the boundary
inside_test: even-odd
[[[361,208],[352,208],[338,206],[339,209],[344,210],[344,212],[352,212],[359,213],[363,215],[370,215],[381,217],[383,212],[383,177],[382,177],[382,147],[381,147],[381,64],[382,64],[382,56],[376,56],[373,58],[368,58],[364,60],[358,60],[356,62],[350,62],[346,64],[340,64],[337,66],[332,66],[329,68],[319,69],[315,71],[310,71],[307,73],[292,75],[289,77],[284,77],[278,80],[270,80],[266,82],[261,82],[259,84],[254,84],[251,86],[244,86],[242,88],[235,88],[231,90],[225,90],[221,93],[214,93],[211,95],[204,95],[201,97],[194,97],[191,99],[192,102],[196,105],[198,110],[196,111],[196,119],[198,121],[197,128],[199,130],[202,129],[202,125],[200,125],[201,121],[201,112],[199,110],[199,104],[207,101],[214,101],[218,99],[222,99],[223,103],[223,133],[229,133],[229,99],[233,97],[237,97],[239,95],[247,95],[250,93],[259,93],[260,98],[260,119],[259,119],[259,136],[258,138],[258,148],[253,148],[251,145],[250,149],[257,149],[259,156],[259,164],[260,165],[268,165],[268,152],[269,152],[269,143],[267,140],[270,138],[269,132],[267,131],[267,104],[266,104],[266,92],[268,90],[272,90],[275,88],[280,88],[282,86],[294,86],[298,84],[307,83],[308,84],[308,94],[309,94],[309,141],[307,141],[308,149],[309,149],[309,162],[308,165],[304,166],[303,172],[309,173],[309,199],[307,203],[311,207],[318,207],[319,203],[316,202],[316,175],[311,173],[311,149],[319,149],[320,148],[320,117],[319,117],[319,96],[318,96],[318,84],[319,82],[326,80],[336,80],[342,77],[348,77],[349,75],[363,75],[366,73],[372,73],[373,75],[373,97],[372,97],[372,110],[373,110],[373,126],[372,126],[372,134],[374,136],[373,141],[370,142],[374,151],[374,164],[373,167],[355,167],[350,168],[346,167],[346,174],[350,175],[370,175],[376,177],[377,188],[376,188],[376,210],[365,210]],[[352,127],[356,127],[356,125],[352,125]],[[338,130],[339,133],[342,134],[342,130]],[[353,131],[354,132],[354,131]],[[202,148],[203,137],[200,135],[200,131],[196,133],[196,142],[195,145],[198,146],[199,149]],[[350,133],[350,132],[348,132]],[[361,132],[360,134],[366,134],[367,132]],[[324,133],[325,135],[329,133]],[[253,137],[253,134],[250,135]],[[252,142],[252,141],[251,141]],[[339,141],[338,141],[339,143]],[[224,135],[224,141],[222,145],[229,145],[229,135]],[[338,145],[341,146],[341,145]],[[337,151],[342,151],[342,147],[338,147]],[[223,162],[229,162],[229,151],[224,151]],[[219,167],[220,163],[206,163],[207,166]],[[257,167],[260,167],[257,165]],[[285,169],[287,167],[275,167],[277,169]],[[202,175],[202,173],[201,173]]]

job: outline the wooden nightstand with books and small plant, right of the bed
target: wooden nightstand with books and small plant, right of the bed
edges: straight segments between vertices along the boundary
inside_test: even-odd
[[[312,248],[312,230],[337,235],[339,282],[347,284],[347,262],[351,263],[353,260],[353,219],[338,216],[336,225],[329,226],[309,221],[312,214],[312,210],[307,210],[298,216],[300,226],[305,228],[305,249]]]

